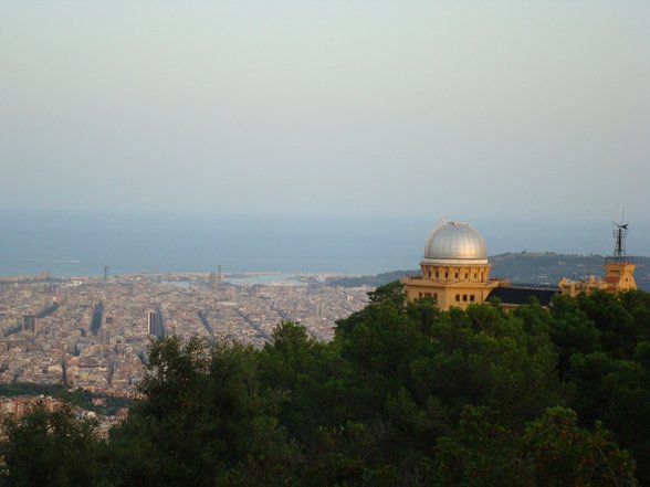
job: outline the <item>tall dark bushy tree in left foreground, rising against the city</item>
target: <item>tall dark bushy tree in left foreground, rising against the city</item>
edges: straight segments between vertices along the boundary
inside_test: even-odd
[[[112,433],[115,484],[283,485],[300,453],[276,421],[255,351],[178,337],[151,345],[146,399]]]

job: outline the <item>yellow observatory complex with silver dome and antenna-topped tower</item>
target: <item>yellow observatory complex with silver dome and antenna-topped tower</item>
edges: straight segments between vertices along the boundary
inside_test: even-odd
[[[625,255],[627,225],[618,225],[615,255],[605,262],[605,278],[589,276],[580,282],[563,278],[558,285],[513,284],[507,279],[490,277],[492,265],[483,236],[469,223],[442,220],[427,237],[420,275],[402,278],[407,298],[432,298],[440,309],[452,306],[466,308],[473,303],[497,298],[512,308],[535,297],[547,306],[558,293],[577,296],[601,289],[619,293],[636,289],[635,265]],[[616,235],[615,235],[616,236]]]

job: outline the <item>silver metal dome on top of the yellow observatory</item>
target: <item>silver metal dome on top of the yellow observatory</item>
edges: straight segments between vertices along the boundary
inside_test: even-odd
[[[485,241],[469,223],[443,220],[427,239],[424,262],[488,264]]]

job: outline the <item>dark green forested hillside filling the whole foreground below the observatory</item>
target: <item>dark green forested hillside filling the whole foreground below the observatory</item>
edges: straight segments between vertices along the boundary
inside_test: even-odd
[[[442,313],[392,283],[332,342],[273,338],[153,342],[108,441],[70,409],[6,422],[1,485],[650,485],[647,293]]]

